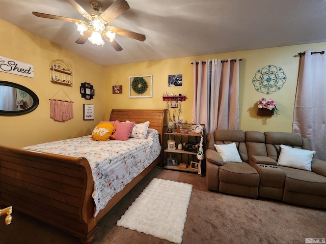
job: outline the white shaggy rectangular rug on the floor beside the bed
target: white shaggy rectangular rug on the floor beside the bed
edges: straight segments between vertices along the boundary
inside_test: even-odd
[[[181,243],[192,189],[189,184],[153,178],[117,225]]]

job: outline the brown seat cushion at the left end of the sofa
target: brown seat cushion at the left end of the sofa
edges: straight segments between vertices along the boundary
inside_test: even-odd
[[[220,181],[238,185],[258,187],[259,174],[248,163],[227,162],[219,169]]]

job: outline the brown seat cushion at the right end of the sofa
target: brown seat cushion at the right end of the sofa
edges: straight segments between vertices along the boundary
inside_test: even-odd
[[[326,196],[326,177],[314,172],[278,166],[284,170],[284,191]]]

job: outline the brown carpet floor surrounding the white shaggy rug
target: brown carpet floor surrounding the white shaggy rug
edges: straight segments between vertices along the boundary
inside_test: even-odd
[[[326,237],[326,211],[206,190],[206,177],[153,169],[99,222],[94,244],[171,244],[116,225],[153,178],[193,185],[182,244],[305,244],[305,238]],[[164,208],[160,204],[157,208]],[[0,243],[75,244],[79,239],[33,218],[13,212],[12,223],[0,217]]]

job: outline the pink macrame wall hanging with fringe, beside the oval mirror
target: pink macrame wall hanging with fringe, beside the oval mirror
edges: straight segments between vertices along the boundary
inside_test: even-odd
[[[59,90],[59,92],[60,92],[60,90]],[[63,92],[64,92],[64,90],[63,90]],[[56,95],[58,93],[56,93]],[[67,97],[69,98],[68,95],[67,95]],[[58,99],[51,98],[50,99],[50,118],[52,118],[55,121],[61,121],[61,122],[67,121],[67,120],[73,118],[73,102],[71,101],[71,99],[70,99],[70,101],[65,101],[65,100],[58,100]]]

